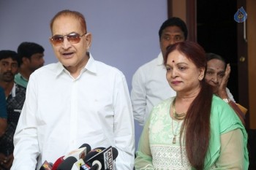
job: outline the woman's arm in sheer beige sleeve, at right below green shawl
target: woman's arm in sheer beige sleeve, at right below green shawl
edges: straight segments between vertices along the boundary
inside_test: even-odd
[[[244,169],[244,136],[235,129],[220,136],[221,147],[217,169]]]

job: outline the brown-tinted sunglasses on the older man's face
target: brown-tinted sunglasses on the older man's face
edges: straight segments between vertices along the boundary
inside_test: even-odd
[[[81,37],[84,35],[86,35],[86,33],[83,35],[80,35],[78,33],[70,33],[70,34],[67,34],[64,36],[55,35],[55,36],[50,37],[50,42],[53,45],[61,45],[64,42],[64,38],[66,37],[67,41],[69,41],[72,44],[76,44],[76,43],[80,42]]]

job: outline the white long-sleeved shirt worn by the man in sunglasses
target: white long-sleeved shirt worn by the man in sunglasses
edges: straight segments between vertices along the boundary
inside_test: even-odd
[[[89,61],[74,79],[61,63],[37,69],[14,136],[12,170],[34,170],[54,163],[82,144],[116,147],[116,169],[133,169],[134,120],[124,74]]]

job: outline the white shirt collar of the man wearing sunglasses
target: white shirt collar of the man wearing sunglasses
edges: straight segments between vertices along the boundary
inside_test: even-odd
[[[80,74],[82,74],[83,72],[86,72],[86,70],[88,70],[91,73],[97,74],[97,67],[95,65],[95,60],[92,57],[91,53],[89,53],[89,60],[86,63],[86,66],[84,66],[84,68],[81,70]],[[64,68],[61,62],[58,62],[57,68],[56,68],[56,77],[58,77],[59,74],[61,74],[62,72],[68,72],[68,71],[67,69]]]

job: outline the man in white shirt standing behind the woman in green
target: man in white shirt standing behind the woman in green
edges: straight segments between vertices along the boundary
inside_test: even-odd
[[[166,48],[176,42],[187,39],[187,26],[180,18],[169,18],[159,29],[161,53],[158,57],[135,72],[132,77],[132,109],[135,120],[144,125],[152,107],[160,101],[176,96],[166,80],[166,69],[163,65]]]

